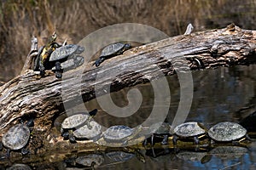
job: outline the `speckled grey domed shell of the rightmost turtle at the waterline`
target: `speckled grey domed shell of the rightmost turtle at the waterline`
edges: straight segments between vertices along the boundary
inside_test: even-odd
[[[210,138],[223,142],[241,139],[246,133],[247,129],[236,122],[219,122],[208,131]]]

